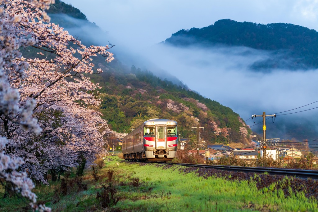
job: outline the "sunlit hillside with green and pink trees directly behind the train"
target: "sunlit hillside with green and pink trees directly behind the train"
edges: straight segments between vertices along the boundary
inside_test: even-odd
[[[178,122],[180,135],[197,139],[191,127],[204,126],[202,139],[227,142],[240,141],[240,133],[251,133],[241,124],[239,114],[231,108],[202,97],[197,92],[177,86],[168,80],[154,76],[152,72],[142,71],[133,66],[129,73],[118,74],[115,69],[103,67],[103,73],[91,79],[99,82],[100,111],[103,119],[119,132],[129,132],[140,123],[151,118],[172,119]],[[243,137],[243,140],[245,138]]]

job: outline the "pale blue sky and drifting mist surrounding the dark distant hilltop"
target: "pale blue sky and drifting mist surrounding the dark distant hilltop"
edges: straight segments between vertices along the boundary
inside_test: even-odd
[[[272,70],[268,73],[249,70],[253,62],[269,58],[269,52],[248,48],[207,50],[154,45],[181,29],[201,28],[227,18],[260,24],[290,23],[318,30],[318,0],[64,2],[78,8],[90,22],[108,32],[111,43],[116,45],[112,51],[125,49],[130,52],[130,58],[140,58],[131,65],[144,65],[154,72],[165,70],[204,97],[232,108],[244,120],[252,114],[261,115],[263,111],[278,113],[318,100],[317,70]],[[123,59],[122,55],[117,57]],[[300,110],[313,107],[318,107],[318,103]],[[308,120],[313,120],[313,114],[317,114],[317,109],[297,113]],[[253,125],[252,122],[247,124]]]

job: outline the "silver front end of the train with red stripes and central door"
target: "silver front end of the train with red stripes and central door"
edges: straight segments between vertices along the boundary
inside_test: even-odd
[[[148,161],[172,161],[178,146],[177,122],[167,119],[145,121],[143,146]]]

